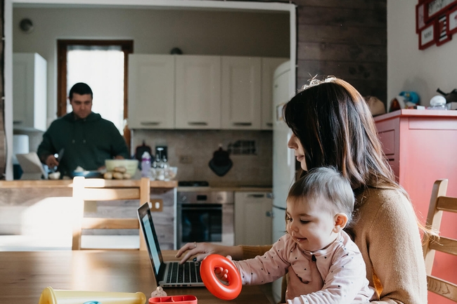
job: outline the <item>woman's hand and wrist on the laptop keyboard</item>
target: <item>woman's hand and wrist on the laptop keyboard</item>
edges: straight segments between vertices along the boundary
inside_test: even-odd
[[[200,261],[206,256],[209,256],[212,253],[220,254],[221,256],[232,256],[234,260],[243,259],[243,249],[241,246],[224,246],[210,243],[187,243],[179,249],[176,253],[176,258],[181,257],[184,254],[183,258],[179,261],[180,264],[186,262],[191,256],[196,256],[193,258],[195,261]]]

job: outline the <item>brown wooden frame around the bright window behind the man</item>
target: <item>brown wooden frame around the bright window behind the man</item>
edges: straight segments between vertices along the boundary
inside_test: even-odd
[[[129,54],[134,52],[133,40],[58,39],[57,40],[57,117],[67,114],[67,51],[68,46],[120,46],[124,52],[124,119],[128,111]]]

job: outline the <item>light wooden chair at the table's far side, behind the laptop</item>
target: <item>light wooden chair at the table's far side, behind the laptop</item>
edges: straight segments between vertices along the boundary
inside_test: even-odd
[[[73,225],[72,250],[80,250],[83,229],[138,229],[140,249],[146,250],[138,218],[84,218],[84,201],[139,199],[140,206],[150,201],[150,180],[103,180],[73,178],[73,197],[81,204]]]

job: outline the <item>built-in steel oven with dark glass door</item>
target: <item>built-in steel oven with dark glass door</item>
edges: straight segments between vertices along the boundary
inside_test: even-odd
[[[177,248],[188,242],[233,246],[233,192],[178,191],[176,209]]]

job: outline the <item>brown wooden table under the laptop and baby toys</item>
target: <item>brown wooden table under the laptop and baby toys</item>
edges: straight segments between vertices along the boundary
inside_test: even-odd
[[[164,260],[175,260],[176,251],[162,251]],[[156,284],[147,251],[1,251],[0,303],[37,304],[41,291],[141,291],[150,298]],[[193,295],[205,303],[266,303],[261,286],[243,286],[238,298],[227,302],[205,287],[165,289],[169,296]]]

